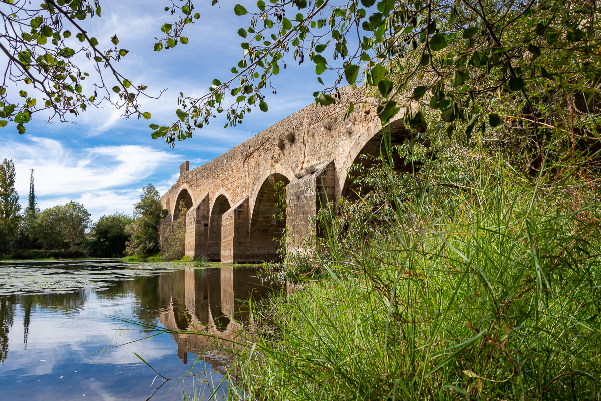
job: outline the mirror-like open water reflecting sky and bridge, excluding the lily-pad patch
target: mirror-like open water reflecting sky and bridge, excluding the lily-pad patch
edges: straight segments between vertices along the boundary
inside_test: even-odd
[[[255,284],[248,284],[249,277],[254,276],[252,272],[247,269],[244,274],[241,269],[237,274],[236,271],[230,270],[232,285],[225,286],[230,288],[222,283],[228,281],[227,274],[224,276],[218,269],[211,269],[208,274],[181,270],[116,281],[108,290],[0,296],[4,305],[1,312],[4,316],[0,316],[0,325],[4,322],[4,326],[0,330],[8,334],[8,344],[2,344],[4,352],[8,345],[8,352],[0,364],[0,399],[63,400],[82,398],[85,394],[86,400],[146,400],[163,380],[157,378],[152,385],[156,374],[133,354],[135,352],[161,375],[175,379],[163,385],[152,399],[181,400],[181,382],[168,391],[196,360],[195,355],[188,352],[202,348],[202,339],[182,340],[161,334],[130,343],[152,333],[106,315],[130,317],[160,326],[181,326],[183,313],[195,320],[208,315],[217,323],[219,319],[215,317],[219,317],[224,305],[235,310],[234,296],[244,299],[251,287],[256,290],[256,278],[251,279]],[[212,292],[212,288],[217,291]],[[231,302],[228,301],[230,293]],[[7,315],[10,304],[12,319]],[[216,313],[211,307],[219,311]],[[236,317],[243,316],[244,313],[236,314]],[[234,312],[230,317],[234,317]],[[221,320],[226,319],[229,318],[222,316]],[[8,320],[12,320],[10,329]],[[213,331],[215,328],[219,325],[213,324]],[[225,332],[230,329],[231,325]],[[5,341],[5,335],[2,337]],[[119,344],[124,345],[106,349]],[[98,352],[100,350],[103,351]],[[195,364],[198,372],[216,371],[212,376],[215,384],[223,378],[220,369],[223,369],[220,361],[206,357]],[[206,396],[212,393],[213,389],[209,390],[194,378],[183,381],[184,391],[191,393],[193,385],[198,391],[204,390]],[[222,390],[227,390],[226,387],[224,384]]]

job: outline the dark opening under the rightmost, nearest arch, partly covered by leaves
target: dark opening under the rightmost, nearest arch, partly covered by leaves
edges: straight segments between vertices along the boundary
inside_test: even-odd
[[[341,195],[349,200],[359,200],[359,196],[363,197],[373,188],[361,186],[356,180],[359,177],[365,176],[367,170],[379,164],[380,146],[382,153],[385,153],[386,147],[382,142],[383,132],[380,130],[376,135],[372,136],[369,141],[361,148],[359,153],[353,160],[353,165],[347,173],[344,180],[344,186]],[[403,142],[411,138],[411,132],[403,127],[391,127],[391,146],[395,147],[403,144]],[[397,152],[392,152],[392,162],[394,163],[393,170],[397,172],[411,171],[412,165],[407,164],[404,158],[401,158]],[[359,195],[359,196],[358,196]]]

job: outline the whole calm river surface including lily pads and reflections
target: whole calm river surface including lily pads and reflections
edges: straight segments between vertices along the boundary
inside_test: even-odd
[[[252,324],[248,299],[274,290],[252,267],[1,263],[0,400],[223,395],[235,384],[224,380],[231,357],[221,347]],[[156,327],[214,337],[163,332],[144,338],[162,332]]]

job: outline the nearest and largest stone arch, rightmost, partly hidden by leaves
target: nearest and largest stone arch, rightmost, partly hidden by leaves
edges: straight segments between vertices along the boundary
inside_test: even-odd
[[[391,129],[391,142],[392,146],[402,144],[410,136],[410,131],[406,130],[403,124],[402,117],[392,120],[388,126]],[[388,129],[388,128],[386,128]],[[384,130],[379,124],[374,124],[370,132],[362,133],[350,147],[346,158],[340,164],[340,168],[337,169],[337,188],[336,198],[348,197],[356,199],[358,192],[358,186],[354,184],[354,176],[349,173],[349,168],[352,165],[361,165],[362,167],[368,168],[374,164],[373,157],[377,157],[380,154],[380,146],[382,145],[382,138]],[[368,156],[365,158],[365,156]],[[404,166],[403,159],[393,157],[395,169],[401,169]]]

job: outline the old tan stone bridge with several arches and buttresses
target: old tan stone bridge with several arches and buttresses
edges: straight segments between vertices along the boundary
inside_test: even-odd
[[[310,105],[284,118],[209,163],[189,169],[160,199],[169,211],[163,224],[186,213],[186,255],[203,254],[221,262],[278,260],[287,226],[293,234],[287,248],[300,246],[299,238],[314,231],[310,217],[320,204],[354,194],[352,164],[365,164],[361,155],[378,155],[382,126],[375,108],[359,106],[370,100],[361,88],[341,88],[342,99],[355,102],[355,111],[343,121],[343,102]],[[408,137],[397,115],[389,123],[394,144]],[[395,164],[402,165],[402,161]],[[283,219],[276,206],[276,182],[286,186]]]

